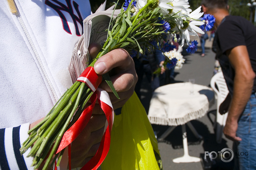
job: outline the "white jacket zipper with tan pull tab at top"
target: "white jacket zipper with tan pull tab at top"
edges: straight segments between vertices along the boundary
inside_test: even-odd
[[[48,83],[48,85],[49,85],[49,87],[50,87],[50,89],[52,91],[52,94],[54,96],[55,102],[57,102],[58,101],[58,96],[57,96],[57,94],[55,92],[55,89],[53,88],[52,82],[50,81],[50,79],[49,79],[49,77],[47,75],[47,72],[45,71],[45,68],[44,68],[44,65],[42,63],[42,60],[40,59],[40,56],[39,56],[39,54],[37,52],[37,49],[35,48],[34,42],[33,42],[32,38],[29,35],[28,29],[26,28],[26,25],[25,25],[23,19],[20,16],[19,10],[17,9],[17,6],[15,5],[14,0],[7,0],[7,1],[8,1],[8,4],[9,4],[11,12],[16,15],[16,17],[18,18],[18,20],[20,22],[20,25],[21,25],[21,27],[22,27],[25,35],[26,35],[26,38],[28,39],[29,44],[30,44],[30,46],[33,49],[33,52],[35,54],[35,57],[37,58],[39,66],[42,69],[44,77],[45,77],[45,79],[46,79],[46,81],[47,81],[47,83]]]

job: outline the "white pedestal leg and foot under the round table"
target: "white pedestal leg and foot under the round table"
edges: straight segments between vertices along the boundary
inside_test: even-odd
[[[193,126],[192,126],[193,127]],[[196,132],[196,131],[195,131]],[[194,132],[193,132],[194,133]],[[198,133],[197,133],[198,134]],[[199,157],[193,157],[189,156],[188,154],[188,140],[187,140],[187,131],[185,124],[182,125],[182,137],[183,137],[183,149],[184,149],[184,155],[181,157],[177,157],[173,159],[173,162],[175,163],[181,163],[181,162],[199,162],[201,159]]]

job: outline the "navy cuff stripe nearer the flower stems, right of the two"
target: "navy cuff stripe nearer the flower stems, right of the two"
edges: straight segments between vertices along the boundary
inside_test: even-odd
[[[27,170],[23,155],[20,154],[20,126],[13,128],[13,150],[19,169]]]

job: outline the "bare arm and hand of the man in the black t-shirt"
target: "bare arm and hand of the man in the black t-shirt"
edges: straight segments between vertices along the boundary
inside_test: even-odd
[[[251,67],[245,45],[240,45],[228,50],[227,56],[235,69],[235,78],[233,98],[223,133],[228,139],[241,141],[242,139],[236,136],[238,119],[251,96],[255,73]]]

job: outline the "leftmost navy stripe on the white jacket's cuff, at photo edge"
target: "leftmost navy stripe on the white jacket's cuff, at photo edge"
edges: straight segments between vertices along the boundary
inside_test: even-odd
[[[5,129],[0,129],[0,166],[3,170],[9,170],[10,167],[8,165],[7,157],[5,154],[5,147],[4,147],[4,132]]]

